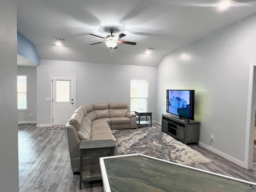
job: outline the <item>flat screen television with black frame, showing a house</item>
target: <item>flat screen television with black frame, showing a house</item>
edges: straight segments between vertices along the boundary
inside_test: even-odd
[[[194,120],[195,90],[166,90],[166,112]]]

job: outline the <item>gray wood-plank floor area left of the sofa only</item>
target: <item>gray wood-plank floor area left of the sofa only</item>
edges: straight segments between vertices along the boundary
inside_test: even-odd
[[[64,130],[19,124],[20,192],[104,192],[102,182],[85,183],[73,175]]]

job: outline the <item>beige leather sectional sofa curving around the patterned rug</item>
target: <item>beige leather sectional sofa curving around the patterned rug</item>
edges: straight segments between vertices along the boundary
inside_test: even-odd
[[[80,171],[80,140],[112,139],[116,143],[111,129],[127,128],[136,128],[136,114],[130,112],[130,107],[126,103],[80,106],[65,127],[72,171],[74,173]],[[117,154],[116,144],[115,155]],[[98,169],[99,156],[89,154],[84,157],[83,170]]]

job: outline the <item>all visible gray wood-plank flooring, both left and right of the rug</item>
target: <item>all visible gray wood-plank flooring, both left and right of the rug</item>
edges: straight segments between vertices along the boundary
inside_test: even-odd
[[[158,124],[154,126],[160,128]],[[79,175],[72,173],[64,130],[19,124],[18,140],[20,192],[104,192],[102,182],[84,183],[79,190]],[[246,170],[201,146],[190,147],[212,160],[193,167],[256,181],[256,162],[252,170]]]

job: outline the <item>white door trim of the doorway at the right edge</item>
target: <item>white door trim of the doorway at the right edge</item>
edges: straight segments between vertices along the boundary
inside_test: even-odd
[[[254,125],[255,125],[255,96],[254,89],[256,79],[254,76],[254,68],[256,63],[250,64],[249,70],[249,85],[248,85],[248,103],[247,103],[247,118],[246,118],[246,133],[245,133],[245,153],[244,153],[244,168],[252,169],[253,158],[253,143],[254,143]],[[256,69],[256,68],[255,68]],[[254,118],[252,118],[254,117]],[[250,153],[251,152],[251,153]]]

